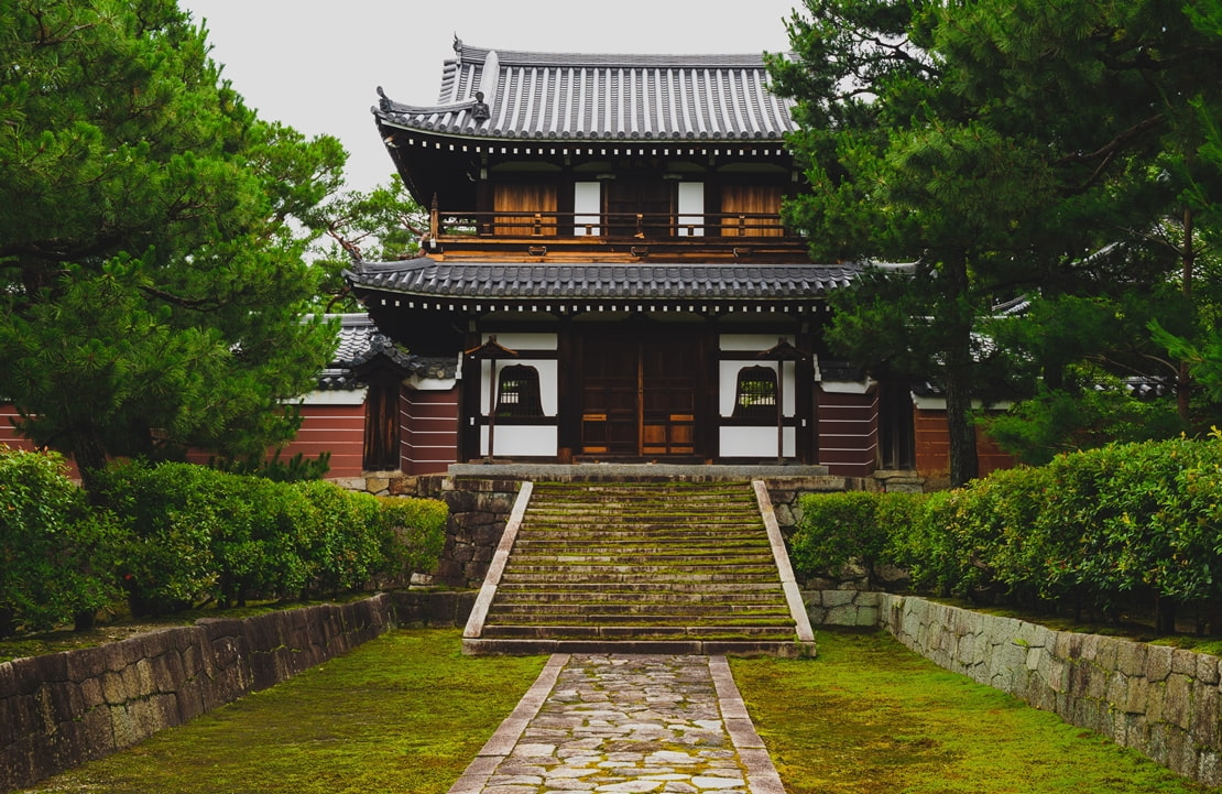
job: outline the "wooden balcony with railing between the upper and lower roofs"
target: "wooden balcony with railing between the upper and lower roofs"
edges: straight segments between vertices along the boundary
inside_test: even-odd
[[[497,261],[804,263],[807,241],[763,213],[446,213],[433,210],[425,253]]]

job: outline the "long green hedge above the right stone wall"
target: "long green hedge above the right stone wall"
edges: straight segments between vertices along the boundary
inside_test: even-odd
[[[799,577],[906,568],[923,591],[1090,608],[1222,606],[1222,440],[1176,439],[1062,454],[930,495],[802,500]]]

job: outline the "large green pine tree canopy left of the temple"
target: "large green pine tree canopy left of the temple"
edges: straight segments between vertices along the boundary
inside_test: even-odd
[[[260,120],[174,0],[0,2],[0,390],[75,456],[287,440],[335,330],[303,225],[346,154]]]

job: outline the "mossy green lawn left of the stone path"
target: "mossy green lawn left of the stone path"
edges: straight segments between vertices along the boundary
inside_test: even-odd
[[[458,629],[403,629],[29,792],[444,794],[543,656],[462,655]]]

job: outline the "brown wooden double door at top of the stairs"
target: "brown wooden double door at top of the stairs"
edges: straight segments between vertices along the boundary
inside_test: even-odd
[[[689,335],[587,337],[580,359],[582,453],[698,454],[699,347]]]

